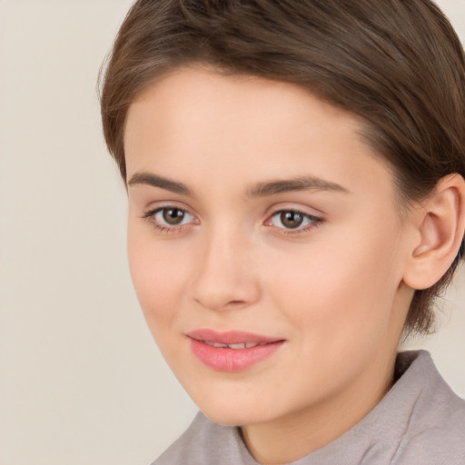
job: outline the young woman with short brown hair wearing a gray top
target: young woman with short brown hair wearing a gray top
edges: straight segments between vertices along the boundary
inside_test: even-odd
[[[465,463],[427,352],[465,230],[465,59],[430,0],[139,0],[104,134],[203,413],[156,465]]]

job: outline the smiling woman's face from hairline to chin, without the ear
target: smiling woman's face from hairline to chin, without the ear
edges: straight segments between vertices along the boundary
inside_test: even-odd
[[[213,420],[360,398],[391,366],[411,298],[408,241],[391,172],[360,130],[294,84],[200,68],[131,105],[135,290]]]

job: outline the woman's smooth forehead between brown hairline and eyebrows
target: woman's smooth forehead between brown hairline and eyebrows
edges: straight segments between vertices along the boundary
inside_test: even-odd
[[[253,183],[305,171],[334,183],[370,184],[376,172],[391,185],[388,166],[363,142],[361,129],[359,118],[296,84],[183,68],[148,87],[129,109],[128,179],[155,171],[226,185],[234,177],[236,184]]]

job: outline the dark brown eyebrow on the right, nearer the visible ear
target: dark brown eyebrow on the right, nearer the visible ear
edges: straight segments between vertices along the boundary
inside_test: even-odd
[[[292,179],[273,180],[265,183],[256,183],[249,187],[247,197],[266,197],[276,193],[288,193],[291,191],[333,191],[350,193],[340,184],[331,183],[314,176],[299,176]]]

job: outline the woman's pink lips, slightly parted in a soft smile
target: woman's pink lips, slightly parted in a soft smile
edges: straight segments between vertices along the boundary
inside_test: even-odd
[[[200,361],[216,371],[243,371],[277,351],[284,340],[243,331],[196,330],[187,334],[191,349]],[[220,344],[259,344],[243,349],[213,347],[206,342]]]

